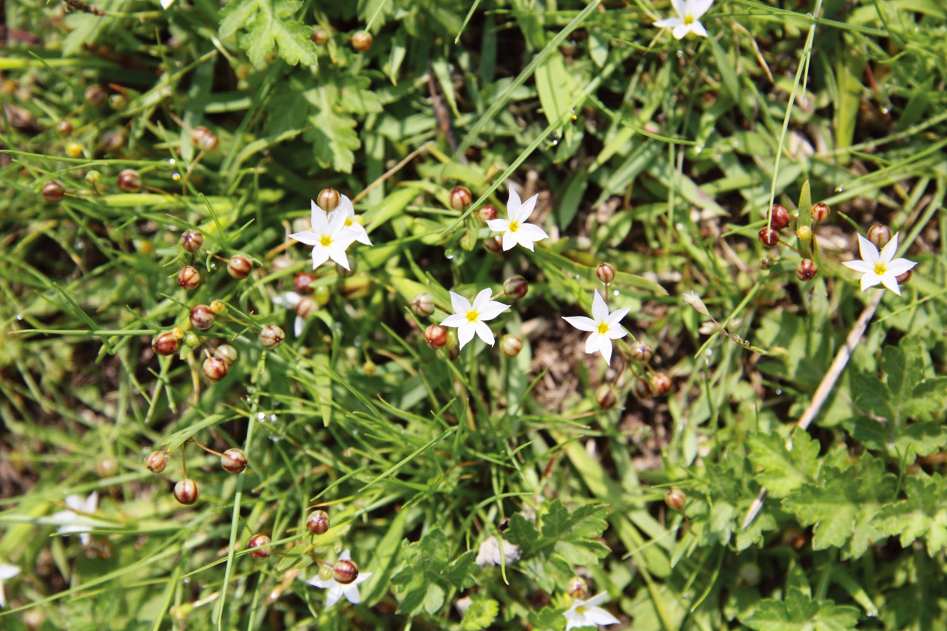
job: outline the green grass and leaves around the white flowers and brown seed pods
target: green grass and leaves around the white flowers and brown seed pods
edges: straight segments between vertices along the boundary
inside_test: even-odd
[[[719,1],[711,37],[680,42],[651,0],[94,4],[5,5],[0,562],[23,571],[0,626],[561,630],[577,573],[635,631],[947,624],[942,2]],[[93,84],[124,103],[90,106]],[[198,126],[217,149],[193,146]],[[141,192],[116,188],[125,168]],[[67,194],[45,203],[54,179]],[[481,246],[475,210],[503,216],[508,179],[541,195],[535,253]],[[803,283],[798,254],[756,233],[805,181],[832,215]],[[472,212],[451,208],[456,184]],[[295,317],[274,298],[311,269],[286,234],[328,186],[364,193],[374,246],[349,251],[352,275],[320,268],[319,310],[267,351],[259,328]],[[867,304],[840,261],[876,222],[920,264],[794,429]],[[193,261],[188,228],[205,235]],[[240,281],[223,269],[238,253],[255,261]],[[600,261],[650,366],[606,371],[561,324],[602,289]],[[185,264],[203,277],[189,292]],[[520,355],[424,344],[417,293],[439,322],[448,289],[514,273],[529,292],[494,330]],[[690,290],[757,350],[702,333]],[[213,300],[228,312],[203,342],[241,358],[202,384],[200,348],[150,342]],[[635,399],[654,369],[670,393]],[[184,507],[170,486],[191,439],[249,466],[188,447],[201,499]],[[94,544],[54,535],[65,496],[94,490]],[[317,537],[315,505],[332,521]],[[480,568],[501,530],[522,558]],[[245,551],[256,533],[270,558]],[[360,605],[325,609],[300,579],[345,549],[371,577]]]

